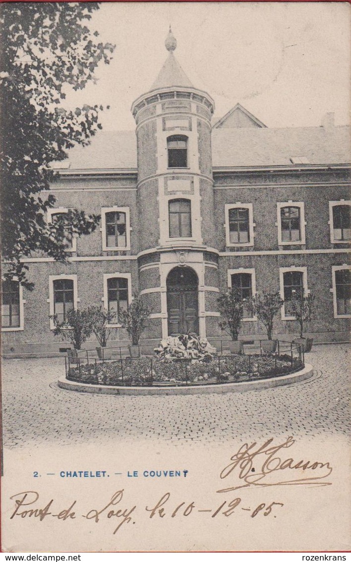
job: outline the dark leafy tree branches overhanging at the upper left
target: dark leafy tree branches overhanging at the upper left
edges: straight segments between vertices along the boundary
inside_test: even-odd
[[[67,157],[67,149],[89,144],[103,107],[62,107],[65,89],[83,89],[95,80],[100,61],[110,62],[114,47],[98,43],[98,33],[86,23],[97,3],[10,2],[0,6],[1,226],[3,257],[10,262],[7,277],[17,275],[28,289],[20,260],[45,252],[65,261],[66,235],[93,232],[97,215],[71,211],[47,224],[52,208],[49,189],[51,162]]]

